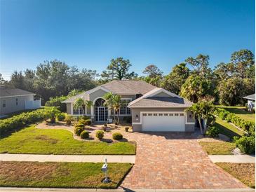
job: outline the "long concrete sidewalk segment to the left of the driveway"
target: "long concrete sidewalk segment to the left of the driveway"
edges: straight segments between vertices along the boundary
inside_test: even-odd
[[[39,161],[39,162],[92,162],[102,163],[135,163],[135,156],[69,156],[69,155],[34,155],[0,153],[2,161]]]

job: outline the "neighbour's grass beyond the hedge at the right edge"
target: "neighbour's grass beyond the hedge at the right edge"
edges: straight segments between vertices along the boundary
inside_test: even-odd
[[[255,123],[255,113],[245,111],[245,107],[227,107],[219,106],[220,108],[226,109],[227,111],[236,114],[237,116],[243,118],[246,121],[251,121]]]

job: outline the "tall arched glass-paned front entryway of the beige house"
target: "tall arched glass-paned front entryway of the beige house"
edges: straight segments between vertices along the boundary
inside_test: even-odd
[[[95,121],[96,122],[105,122],[107,121],[108,111],[107,107],[104,105],[105,100],[98,98],[94,104],[95,110]]]

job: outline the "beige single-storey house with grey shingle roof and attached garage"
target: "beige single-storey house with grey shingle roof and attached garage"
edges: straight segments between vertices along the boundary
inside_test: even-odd
[[[194,118],[190,112],[184,111],[192,103],[144,81],[111,81],[71,97],[64,101],[67,114],[90,116],[96,123],[106,122],[112,118],[102,98],[107,92],[121,95],[124,104],[119,116],[131,116],[134,131],[194,131]],[[93,106],[86,107],[85,111],[82,108],[74,109],[73,104],[79,97],[92,101]]]

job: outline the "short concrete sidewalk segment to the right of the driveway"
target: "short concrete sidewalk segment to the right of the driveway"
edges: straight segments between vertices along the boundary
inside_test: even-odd
[[[239,155],[239,156],[209,156],[213,163],[255,163],[255,156]]]

